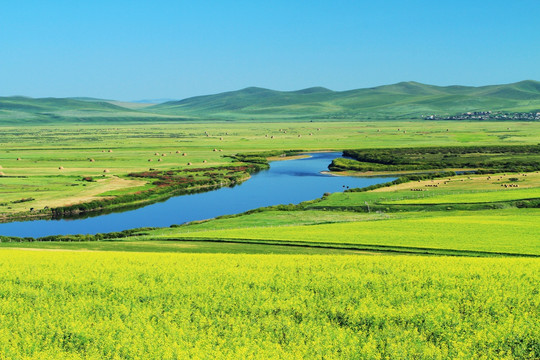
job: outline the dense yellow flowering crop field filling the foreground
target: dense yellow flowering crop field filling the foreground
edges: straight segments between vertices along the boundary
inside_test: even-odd
[[[0,251],[25,359],[535,359],[533,259]]]

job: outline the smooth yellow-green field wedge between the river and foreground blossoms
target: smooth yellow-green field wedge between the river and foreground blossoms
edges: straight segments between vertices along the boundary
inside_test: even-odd
[[[449,250],[540,255],[538,209],[404,213],[393,217],[375,214],[370,218],[366,215],[364,221],[286,226],[275,226],[272,212],[264,215],[266,226],[249,227],[242,218],[236,218],[233,224],[242,225],[231,227],[225,220],[201,224],[203,226],[160,229],[144,238],[258,241],[403,252],[425,250],[441,253]]]

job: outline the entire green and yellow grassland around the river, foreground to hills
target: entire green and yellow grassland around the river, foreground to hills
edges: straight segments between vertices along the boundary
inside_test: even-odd
[[[3,221],[245,181],[288,150],[540,143],[532,122],[2,131]],[[537,359],[540,174],[450,170],[165,228],[0,234],[0,358]]]

